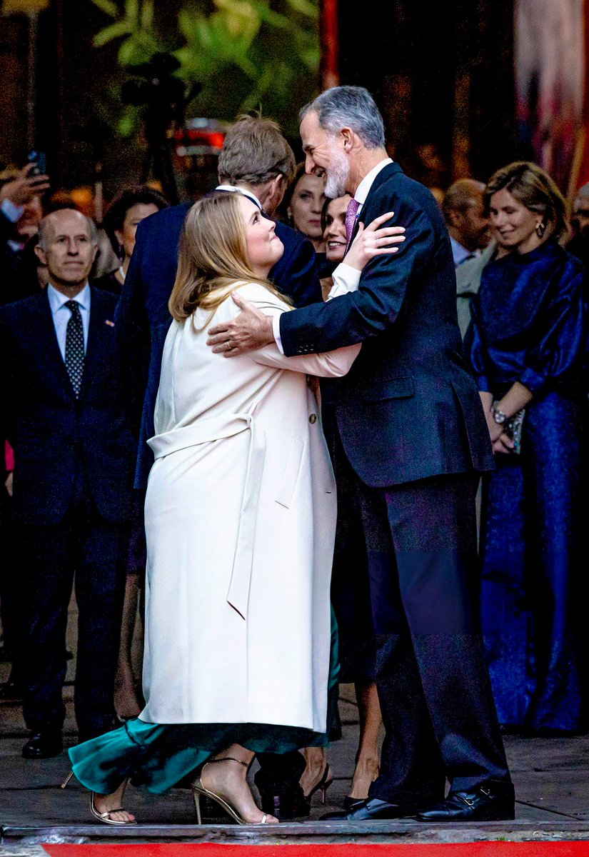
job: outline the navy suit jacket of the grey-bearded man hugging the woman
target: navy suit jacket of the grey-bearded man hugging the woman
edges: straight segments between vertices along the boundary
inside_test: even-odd
[[[344,449],[368,485],[491,470],[485,416],[462,356],[448,231],[430,191],[396,163],[378,173],[360,220],[389,211],[407,229],[399,252],[373,259],[358,291],[283,314],[284,353],[363,343],[334,387]]]

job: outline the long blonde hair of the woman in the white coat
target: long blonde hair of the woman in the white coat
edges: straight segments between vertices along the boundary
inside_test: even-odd
[[[238,283],[258,283],[285,300],[267,279],[253,273],[237,197],[228,191],[210,194],[195,202],[187,214],[176,282],[168,302],[176,321],[184,321],[199,308],[214,314]]]

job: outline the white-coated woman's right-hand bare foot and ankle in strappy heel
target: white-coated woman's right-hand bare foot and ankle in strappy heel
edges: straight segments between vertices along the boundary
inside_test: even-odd
[[[246,750],[240,744],[232,744],[214,759],[236,758],[245,765],[253,761],[254,753]],[[249,824],[259,824],[264,813],[256,806],[253,794],[247,783],[247,767],[244,764],[226,762],[225,764],[205,764],[200,774],[200,782],[213,794],[226,800]],[[267,818],[268,823],[278,824],[273,815]]]

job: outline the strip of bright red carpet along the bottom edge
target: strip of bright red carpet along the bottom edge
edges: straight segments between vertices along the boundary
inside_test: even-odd
[[[467,842],[460,845],[44,845],[50,857],[589,857],[589,842]]]

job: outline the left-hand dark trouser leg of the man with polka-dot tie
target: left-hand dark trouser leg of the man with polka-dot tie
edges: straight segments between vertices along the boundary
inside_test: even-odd
[[[54,526],[21,525],[15,535],[27,593],[23,715],[33,732],[60,729],[65,718],[65,632],[74,581],[74,514],[68,512]]]

